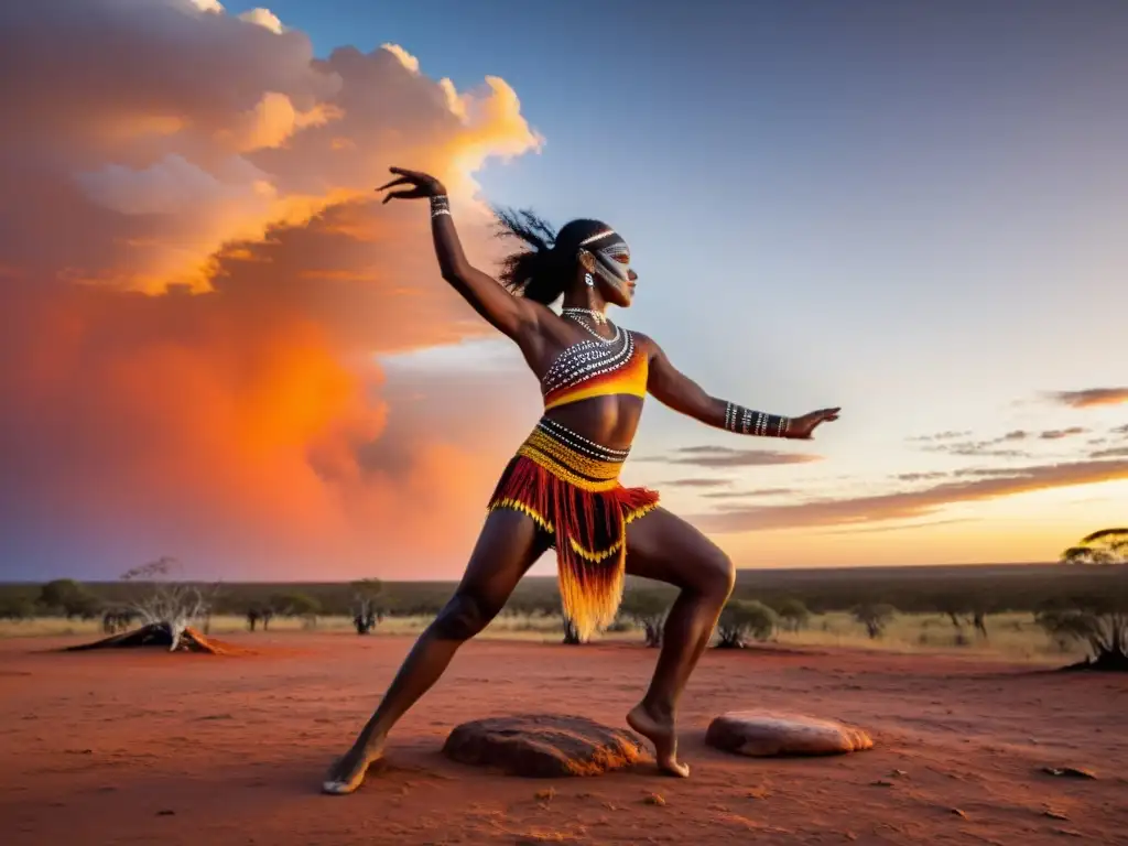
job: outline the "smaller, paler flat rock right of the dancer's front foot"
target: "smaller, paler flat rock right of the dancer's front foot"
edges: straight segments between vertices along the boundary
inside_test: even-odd
[[[844,755],[872,749],[861,729],[832,720],[760,711],[733,711],[710,723],[705,742],[754,758],[784,755]]]

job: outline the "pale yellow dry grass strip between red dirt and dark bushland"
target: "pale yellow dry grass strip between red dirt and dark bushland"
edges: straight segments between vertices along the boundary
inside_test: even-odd
[[[431,617],[389,617],[378,627],[377,635],[417,635],[431,622]],[[201,625],[201,628],[203,626]],[[776,643],[793,646],[834,646],[841,649],[878,650],[911,653],[960,652],[977,658],[997,658],[1017,661],[1065,662],[1083,655],[1079,644],[1065,650],[1051,641],[1036,624],[1031,614],[1005,614],[987,618],[989,638],[981,640],[970,627],[961,633],[952,626],[948,617],[936,614],[899,615],[888,626],[884,635],[870,640],[865,628],[847,614],[825,614],[811,618],[801,632],[779,632]],[[222,636],[235,632],[246,632],[243,617],[212,617],[208,633]],[[324,632],[355,636],[352,620],[347,617],[325,616],[316,620],[279,618],[271,623],[272,633]],[[556,617],[502,615],[497,617],[482,637],[490,640],[522,640],[559,642],[563,634]],[[29,620],[0,620],[0,638],[82,635],[91,640],[102,635],[99,620],[68,620],[62,617],[38,617]],[[603,641],[640,641],[642,633],[636,629],[605,633]]]

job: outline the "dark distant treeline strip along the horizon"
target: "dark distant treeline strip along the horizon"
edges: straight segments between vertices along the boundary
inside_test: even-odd
[[[90,616],[129,606],[143,591],[138,582],[74,582],[44,594],[44,584],[0,584],[0,617],[58,614],[63,605]],[[206,585],[211,613],[246,615],[254,608],[317,615],[356,614],[370,601],[381,616],[433,615],[450,598],[453,582],[220,582]],[[668,585],[628,579],[631,594],[672,600]],[[52,597],[58,594],[59,599]],[[843,570],[740,571],[734,598],[779,608],[802,602],[814,614],[845,611],[862,603],[888,603],[911,613],[1001,614],[1037,611],[1078,598],[1128,600],[1128,567],[1076,564],[946,567],[855,567]],[[62,603],[62,605],[61,605]],[[553,576],[527,578],[506,611],[556,614],[559,594]]]

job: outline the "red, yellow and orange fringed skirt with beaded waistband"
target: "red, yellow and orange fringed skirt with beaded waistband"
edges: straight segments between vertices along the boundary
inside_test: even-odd
[[[619,484],[626,457],[545,417],[490,499],[490,511],[521,511],[552,535],[564,615],[582,640],[623,600],[627,523],[658,508],[656,492]]]

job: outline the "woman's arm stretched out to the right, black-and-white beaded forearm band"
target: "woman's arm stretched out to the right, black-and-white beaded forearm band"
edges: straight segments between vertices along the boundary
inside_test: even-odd
[[[801,417],[784,417],[710,396],[679,371],[653,341],[646,389],[663,405],[717,429],[765,438],[810,439],[816,426],[838,420],[840,408],[821,408]]]

